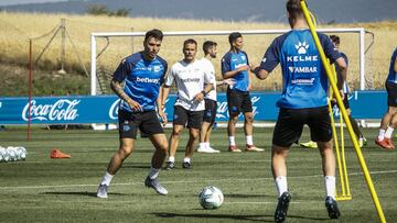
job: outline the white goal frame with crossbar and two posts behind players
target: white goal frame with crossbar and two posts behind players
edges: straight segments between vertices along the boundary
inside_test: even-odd
[[[240,30],[243,35],[260,35],[260,34],[282,34],[288,30]],[[354,33],[358,34],[358,60],[360,60],[360,90],[365,90],[365,30],[363,27],[346,27],[346,29],[318,29],[323,33]],[[186,32],[164,32],[164,36],[208,36],[223,35],[227,36],[236,31],[186,31]],[[98,78],[97,78],[97,38],[109,37],[142,37],[146,32],[104,32],[92,33],[90,46],[90,94],[98,94]],[[105,47],[106,48],[106,47]],[[179,48],[175,51],[180,51]],[[265,51],[265,49],[264,49]],[[103,52],[100,52],[103,53]]]

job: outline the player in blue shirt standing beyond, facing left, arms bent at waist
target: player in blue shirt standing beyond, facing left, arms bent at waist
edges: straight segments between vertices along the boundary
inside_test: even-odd
[[[227,135],[229,141],[229,152],[242,152],[235,142],[236,123],[238,115],[244,113],[244,131],[246,136],[247,152],[262,152],[254,145],[253,140],[253,103],[249,96],[250,90],[250,67],[248,55],[243,48],[243,35],[238,32],[230,33],[228,36],[230,51],[222,58],[222,76],[224,79],[232,79],[235,83],[227,88],[227,107],[229,121],[227,123]]]

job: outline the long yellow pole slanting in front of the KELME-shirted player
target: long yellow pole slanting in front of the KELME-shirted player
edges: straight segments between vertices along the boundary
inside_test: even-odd
[[[325,68],[325,71],[326,71],[326,75],[329,77],[329,80],[330,80],[330,83],[331,83],[331,87],[333,89],[334,92],[339,92],[337,90],[337,87],[335,85],[335,81],[334,79],[332,78],[332,75],[331,75],[331,69],[330,69],[330,66],[328,64],[328,60],[326,60],[326,57],[325,57],[325,54],[324,54],[324,49],[322,48],[321,44],[320,44],[320,40],[319,40],[319,36],[315,32],[315,27],[313,26],[313,23],[310,19],[310,15],[309,15],[309,10],[307,8],[307,4],[305,4],[305,1],[304,0],[301,0],[301,7],[302,7],[302,10],[303,10],[303,13],[304,13],[304,18],[308,22],[308,25],[309,25],[309,29],[310,29],[310,32],[313,36],[313,40],[315,42],[315,46],[318,47],[318,51],[320,53],[320,56],[321,56],[321,60],[323,63],[323,66]],[[343,115],[343,119],[345,120],[346,122],[346,126],[347,126],[347,131],[348,131],[348,134],[351,135],[351,138],[352,138],[352,142],[353,142],[353,145],[354,145],[354,149],[356,152],[356,155],[357,155],[357,158],[358,158],[358,161],[360,161],[360,165],[362,167],[362,170],[363,170],[363,174],[364,174],[364,177],[365,177],[365,180],[367,182],[367,186],[368,186],[368,189],[369,189],[369,192],[371,192],[371,196],[372,196],[372,199],[374,201],[374,204],[375,204],[375,208],[376,208],[376,211],[377,211],[377,214],[378,214],[378,218],[379,218],[379,221],[382,223],[386,222],[386,219],[385,219],[385,214],[383,212],[383,209],[382,209],[382,205],[380,205],[380,202],[379,202],[379,199],[376,194],[376,190],[375,190],[375,187],[374,187],[374,183],[372,181],[372,178],[371,178],[371,175],[369,175],[369,171],[368,171],[368,168],[365,164],[365,159],[364,159],[364,156],[360,149],[360,146],[358,146],[358,142],[357,142],[357,138],[355,137],[355,134],[353,132],[353,127],[352,127],[352,123],[350,122],[348,120],[348,116],[347,116],[347,113],[346,113],[346,109],[344,108],[344,104],[342,102],[342,98],[339,93],[335,93],[335,97],[336,97],[336,102],[337,102],[337,105],[342,112],[342,115]]]

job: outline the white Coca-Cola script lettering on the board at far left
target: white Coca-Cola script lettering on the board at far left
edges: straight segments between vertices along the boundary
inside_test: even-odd
[[[75,107],[81,100],[60,99],[53,104],[41,104],[35,100],[31,101],[31,120],[40,121],[73,121],[77,114]],[[23,108],[22,119],[29,120],[29,103]]]

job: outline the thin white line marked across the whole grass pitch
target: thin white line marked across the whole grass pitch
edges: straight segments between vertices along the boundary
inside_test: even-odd
[[[395,170],[384,170],[384,171],[371,171],[371,175],[383,175],[383,174],[396,174],[397,169]],[[363,175],[363,172],[351,172],[348,176],[358,176]],[[322,177],[323,175],[309,175],[309,176],[297,176],[297,177],[288,177],[288,178],[316,178]],[[255,178],[257,180],[272,180],[272,177],[265,177],[265,178]],[[203,180],[180,180],[180,181],[162,181],[162,183],[195,183],[195,182],[202,182]],[[227,179],[212,179],[211,181],[246,181],[246,180],[253,180],[253,179],[234,179],[234,178],[227,178]],[[208,181],[208,180],[207,180]],[[132,186],[132,185],[143,185],[143,180],[139,182],[118,182],[118,183],[111,183],[111,186]],[[3,190],[19,190],[19,189],[44,189],[44,188],[81,188],[81,187],[98,187],[98,185],[43,185],[43,186],[14,186],[14,187],[0,187],[0,189]]]

